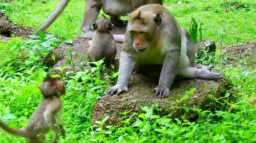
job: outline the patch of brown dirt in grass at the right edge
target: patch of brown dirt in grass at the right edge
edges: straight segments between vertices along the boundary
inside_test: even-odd
[[[226,61],[225,65],[256,66],[256,42],[228,46],[224,49],[224,53],[226,54],[225,57],[227,57],[227,59],[224,60]]]

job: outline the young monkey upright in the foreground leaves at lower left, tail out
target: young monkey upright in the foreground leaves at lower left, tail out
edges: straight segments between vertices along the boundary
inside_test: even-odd
[[[1,121],[0,127],[13,135],[25,137],[28,143],[44,142],[45,134],[53,130],[55,132],[53,142],[58,142],[59,133],[65,138],[65,130],[60,124],[62,112],[60,96],[66,92],[65,85],[59,78],[48,78],[39,89],[44,99],[32,114],[26,128],[13,129]]]

